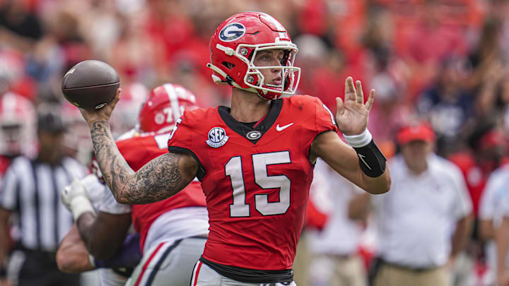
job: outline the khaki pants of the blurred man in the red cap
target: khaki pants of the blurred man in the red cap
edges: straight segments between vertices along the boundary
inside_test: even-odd
[[[450,286],[450,282],[443,267],[416,271],[382,264],[374,286]]]

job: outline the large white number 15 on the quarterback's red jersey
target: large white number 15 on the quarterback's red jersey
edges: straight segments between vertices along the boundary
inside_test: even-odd
[[[269,203],[267,193],[254,195],[254,208],[262,215],[281,215],[290,208],[291,181],[286,175],[269,176],[268,165],[291,163],[290,152],[253,154],[252,166],[254,182],[262,189],[279,189],[279,201]],[[230,205],[230,217],[249,217],[250,205],[245,202],[244,172],[242,172],[242,158],[231,157],[225,165],[225,174],[230,177],[233,188],[233,204]]]

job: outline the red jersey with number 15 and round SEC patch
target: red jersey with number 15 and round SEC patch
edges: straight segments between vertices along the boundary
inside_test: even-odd
[[[312,141],[337,131],[317,97],[273,100],[254,128],[228,107],[186,111],[170,152],[190,152],[209,211],[203,258],[223,266],[288,270],[293,266],[312,181]]]

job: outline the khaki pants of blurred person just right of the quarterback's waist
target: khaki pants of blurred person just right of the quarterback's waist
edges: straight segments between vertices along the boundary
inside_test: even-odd
[[[318,255],[310,263],[310,285],[366,286],[364,264],[359,256]]]

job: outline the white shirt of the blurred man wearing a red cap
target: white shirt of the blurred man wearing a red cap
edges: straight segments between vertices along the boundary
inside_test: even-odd
[[[456,222],[472,212],[460,169],[436,155],[428,157],[428,169],[418,176],[401,155],[389,167],[390,191],[373,196],[378,255],[414,268],[442,266]]]

